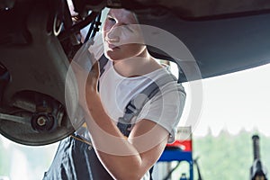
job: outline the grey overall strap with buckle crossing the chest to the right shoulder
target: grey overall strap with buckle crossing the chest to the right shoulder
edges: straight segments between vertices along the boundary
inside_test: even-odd
[[[117,127],[124,136],[128,137],[130,135],[131,120],[139,115],[139,112],[142,110],[143,106],[148,103],[148,100],[160,92],[159,87],[172,81],[177,81],[173,75],[166,74],[165,76],[161,76],[130,100],[130,103],[128,103],[125,108],[123,117],[120,117],[117,123]]]

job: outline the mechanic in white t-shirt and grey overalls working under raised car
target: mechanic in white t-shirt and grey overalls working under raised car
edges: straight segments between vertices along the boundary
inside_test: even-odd
[[[85,86],[78,80],[80,89],[85,90],[80,94],[80,104],[86,126],[60,141],[43,179],[150,179],[149,169],[166,143],[174,141],[185,102],[184,87],[175,80],[159,87],[159,94],[132,118],[125,129],[128,133],[121,130],[121,125],[126,125],[121,117],[132,98],[153,81],[172,76],[149,54],[135,24],[139,25],[138,20],[128,10],[110,9],[107,14],[102,41],[108,61],[104,67],[93,62]],[[76,63],[73,68],[79,79],[84,74],[82,68]],[[99,164],[90,153],[96,155]]]

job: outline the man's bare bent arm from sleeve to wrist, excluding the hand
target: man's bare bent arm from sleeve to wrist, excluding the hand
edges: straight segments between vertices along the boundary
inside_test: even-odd
[[[168,132],[156,122],[141,120],[127,139],[103,109],[96,92],[86,92],[88,118],[94,149],[103,166],[116,179],[140,179],[163,152]]]

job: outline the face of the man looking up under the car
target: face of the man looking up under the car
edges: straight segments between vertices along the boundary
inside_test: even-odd
[[[108,13],[103,25],[103,44],[105,56],[112,60],[142,57],[146,51],[134,14],[124,9],[111,9]]]

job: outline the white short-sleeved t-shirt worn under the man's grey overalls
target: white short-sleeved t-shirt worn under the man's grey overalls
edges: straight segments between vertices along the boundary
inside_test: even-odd
[[[115,71],[112,61],[109,60],[104,67],[99,86],[105,111],[117,123],[118,119],[123,116],[127,104],[136,94],[141,93],[153,81],[169,73],[168,69],[164,67],[145,76],[125,77]],[[157,122],[168,130],[170,133],[168,143],[171,143],[175,140],[175,128],[184,109],[184,87],[173,81],[159,88],[160,93],[146,103],[139,116],[132,122],[136,123],[142,119]]]

